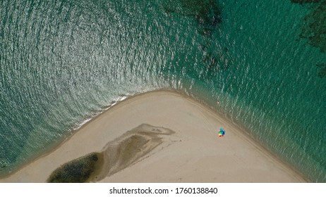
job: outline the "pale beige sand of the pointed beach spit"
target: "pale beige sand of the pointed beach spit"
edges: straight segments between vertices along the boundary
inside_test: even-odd
[[[148,126],[142,145],[131,147],[138,151],[126,151],[130,147],[121,141],[137,135],[131,130],[142,124],[161,130],[150,134],[155,129]],[[224,137],[217,135],[220,127],[227,131]],[[231,122],[171,91],[140,94],[116,104],[54,151],[0,182],[46,182],[64,163],[101,151],[107,158],[115,155],[104,161],[114,167],[99,170],[99,182],[306,182]]]

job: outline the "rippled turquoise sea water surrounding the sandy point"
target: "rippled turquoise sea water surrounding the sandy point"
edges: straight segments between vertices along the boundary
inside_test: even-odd
[[[307,29],[325,1],[0,2],[0,175],[123,98],[176,89],[326,182],[326,42]]]

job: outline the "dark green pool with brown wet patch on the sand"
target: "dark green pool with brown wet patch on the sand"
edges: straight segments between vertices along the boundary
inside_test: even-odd
[[[140,125],[110,141],[101,153],[90,153],[54,170],[47,182],[98,182],[144,159],[174,132],[164,127]]]

